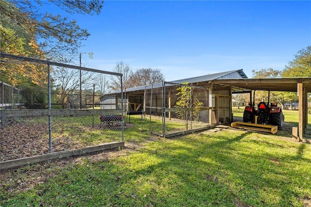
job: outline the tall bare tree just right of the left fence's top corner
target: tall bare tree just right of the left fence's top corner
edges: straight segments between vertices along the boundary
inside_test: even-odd
[[[132,69],[127,64],[124,64],[123,61],[120,61],[113,68],[113,71],[117,73],[122,73],[123,76],[112,77],[111,84],[109,87],[114,91],[121,90],[121,80],[122,80],[123,89],[128,88],[128,80],[132,75]]]

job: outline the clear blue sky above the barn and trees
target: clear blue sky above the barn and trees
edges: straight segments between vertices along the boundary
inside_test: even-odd
[[[54,11],[57,12],[57,11]],[[59,11],[61,12],[61,11]],[[166,81],[243,69],[282,70],[311,45],[311,1],[114,1],[73,15],[91,34],[87,67],[161,69]]]

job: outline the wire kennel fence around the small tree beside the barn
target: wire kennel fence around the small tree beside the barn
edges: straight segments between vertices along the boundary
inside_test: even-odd
[[[170,82],[145,86],[149,131],[170,137],[210,126],[208,89]]]

